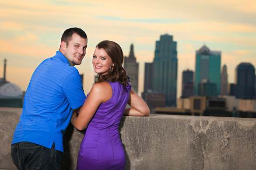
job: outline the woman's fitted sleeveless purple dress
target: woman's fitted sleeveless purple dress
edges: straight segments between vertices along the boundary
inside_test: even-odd
[[[109,82],[112,97],[99,105],[81,142],[77,170],[124,170],[125,153],[118,126],[129,99],[131,85]],[[100,94],[99,94],[100,95]]]

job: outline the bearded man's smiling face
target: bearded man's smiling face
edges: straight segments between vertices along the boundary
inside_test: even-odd
[[[87,48],[87,39],[80,37],[78,34],[73,34],[71,40],[66,46],[65,57],[71,66],[81,65]]]

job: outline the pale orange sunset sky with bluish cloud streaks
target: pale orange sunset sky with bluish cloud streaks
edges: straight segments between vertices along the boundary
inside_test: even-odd
[[[130,45],[139,62],[140,95],[144,63],[154,59],[155,41],[163,34],[177,42],[177,97],[182,71],[195,71],[195,54],[203,45],[221,51],[221,67],[228,82],[235,81],[241,62],[256,67],[256,0],[0,0],[0,78],[7,59],[7,81],[26,91],[35,68],[60,48],[67,28],[79,27],[88,35],[81,65],[84,92],[94,83],[91,64],[95,46],[115,41],[129,55]]]

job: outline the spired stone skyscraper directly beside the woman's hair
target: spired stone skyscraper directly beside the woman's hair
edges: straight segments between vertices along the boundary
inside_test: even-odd
[[[136,58],[133,52],[133,44],[130,47],[129,57],[124,57],[124,69],[127,75],[130,77],[130,84],[134,92],[138,93],[138,75],[139,75],[139,63],[136,62]]]

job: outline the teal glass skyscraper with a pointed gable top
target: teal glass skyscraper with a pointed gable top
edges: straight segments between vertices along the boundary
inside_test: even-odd
[[[198,94],[198,84],[207,81],[216,84],[217,95],[221,86],[221,51],[210,51],[205,45],[196,51],[195,95]]]

